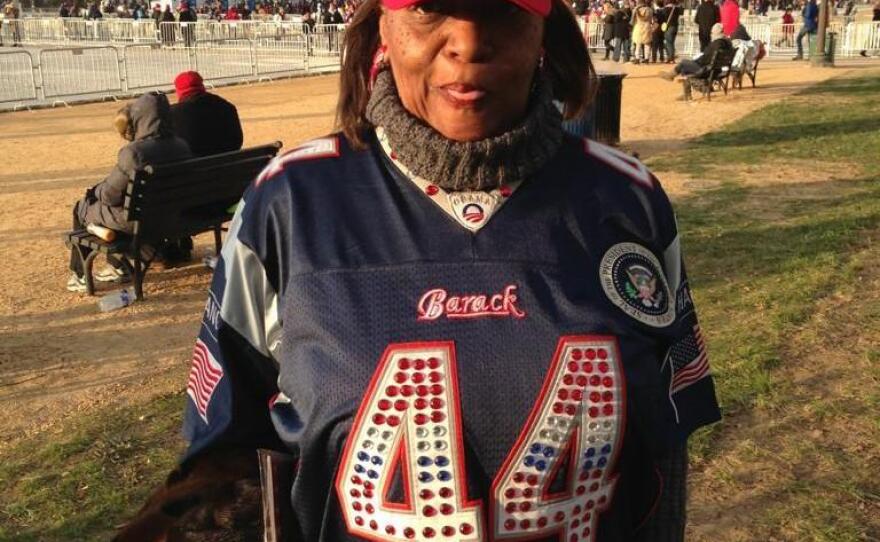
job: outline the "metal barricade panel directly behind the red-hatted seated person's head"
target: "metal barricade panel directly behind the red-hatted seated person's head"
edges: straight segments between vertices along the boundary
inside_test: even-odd
[[[191,50],[180,47],[126,45],[122,48],[126,90],[152,90],[169,87],[180,72],[194,69]]]

